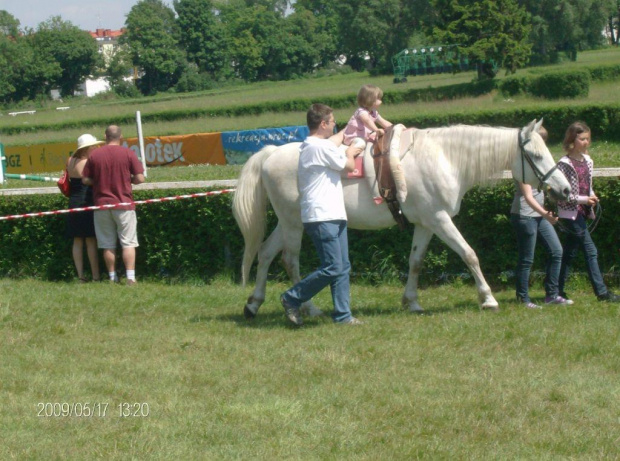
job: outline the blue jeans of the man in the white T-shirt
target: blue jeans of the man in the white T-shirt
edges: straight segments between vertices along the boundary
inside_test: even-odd
[[[301,306],[329,285],[332,292],[334,322],[351,318],[349,293],[349,241],[346,221],[304,223],[306,233],[314,242],[321,266],[284,293],[293,306]]]

